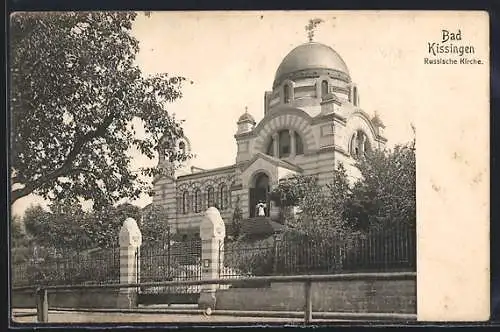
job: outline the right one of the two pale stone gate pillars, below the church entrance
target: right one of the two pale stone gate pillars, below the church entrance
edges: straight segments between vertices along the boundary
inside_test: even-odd
[[[226,237],[226,227],[219,210],[210,207],[205,211],[200,224],[201,237],[201,278],[218,279],[219,264],[223,266],[223,243]],[[221,247],[220,247],[221,246]],[[219,248],[222,248],[219,253]],[[202,285],[198,300],[201,309],[215,309],[215,292],[218,285]]]

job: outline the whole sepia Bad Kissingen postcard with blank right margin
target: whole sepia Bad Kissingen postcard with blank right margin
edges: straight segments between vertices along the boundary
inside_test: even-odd
[[[12,324],[488,320],[488,19],[14,13]]]

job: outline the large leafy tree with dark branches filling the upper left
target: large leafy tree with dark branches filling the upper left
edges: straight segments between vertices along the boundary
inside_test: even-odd
[[[181,123],[167,105],[183,77],[143,77],[130,12],[18,13],[11,16],[11,202],[31,193],[52,201],[91,200],[99,210],[150,192],[130,169],[129,149],[171,160]],[[145,135],[136,134],[132,120]]]

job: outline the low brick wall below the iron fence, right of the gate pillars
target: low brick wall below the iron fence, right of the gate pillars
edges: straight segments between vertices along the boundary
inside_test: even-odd
[[[217,291],[216,309],[302,311],[303,283]],[[312,284],[313,311],[416,314],[416,280],[333,281]]]

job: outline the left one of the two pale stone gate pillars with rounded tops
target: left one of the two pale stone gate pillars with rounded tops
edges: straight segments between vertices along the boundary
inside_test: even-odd
[[[142,235],[137,222],[127,218],[120,229],[120,284],[136,283],[139,277]],[[120,288],[118,308],[130,309],[137,305],[136,288]]]

